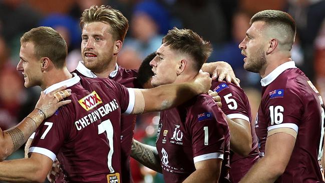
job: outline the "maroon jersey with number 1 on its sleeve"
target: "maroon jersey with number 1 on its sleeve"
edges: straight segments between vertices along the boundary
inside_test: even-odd
[[[225,116],[210,96],[161,111],[156,145],[165,182],[182,182],[195,162],[212,158],[223,158],[219,182],[230,182],[229,140]]]

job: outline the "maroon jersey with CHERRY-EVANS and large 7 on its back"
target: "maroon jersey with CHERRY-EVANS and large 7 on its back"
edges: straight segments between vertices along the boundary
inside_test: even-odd
[[[133,109],[133,89],[74,74],[45,92],[63,85],[72,90],[72,103],[40,125],[30,152],[57,157],[71,182],[122,182],[120,118]]]

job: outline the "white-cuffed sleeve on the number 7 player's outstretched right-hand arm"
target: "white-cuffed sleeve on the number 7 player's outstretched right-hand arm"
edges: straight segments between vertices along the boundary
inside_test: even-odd
[[[111,86],[113,94],[117,97],[118,103],[121,107],[121,113],[131,114],[135,104],[135,94],[133,88],[126,88],[124,85],[113,80],[106,80],[106,84]]]

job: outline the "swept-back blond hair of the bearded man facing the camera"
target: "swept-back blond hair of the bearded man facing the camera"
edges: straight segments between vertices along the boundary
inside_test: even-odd
[[[126,32],[129,29],[129,21],[123,16],[123,14],[113,9],[110,6],[100,6],[97,5],[91,6],[89,9],[86,9],[80,18],[80,27],[84,28],[86,23],[91,22],[103,22],[109,24],[112,28],[113,38],[115,40],[124,41]]]

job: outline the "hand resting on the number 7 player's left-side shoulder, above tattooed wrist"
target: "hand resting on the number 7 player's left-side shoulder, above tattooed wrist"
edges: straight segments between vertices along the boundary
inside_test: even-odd
[[[62,86],[47,94],[42,91],[35,108],[41,110],[44,113],[45,118],[52,116],[59,107],[71,102],[71,100],[63,100],[71,95],[71,89],[65,90],[66,88],[67,86]]]

